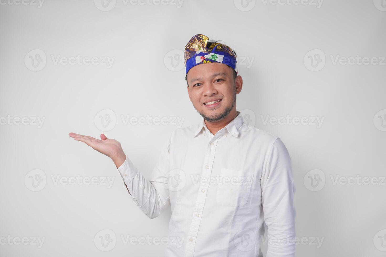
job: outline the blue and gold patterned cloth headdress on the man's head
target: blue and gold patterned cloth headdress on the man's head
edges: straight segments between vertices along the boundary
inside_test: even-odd
[[[220,62],[236,69],[236,57],[228,46],[213,43],[207,49],[208,37],[197,34],[185,46],[186,74],[198,64]]]

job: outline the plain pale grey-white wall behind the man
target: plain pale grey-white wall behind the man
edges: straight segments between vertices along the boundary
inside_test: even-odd
[[[195,34],[236,51],[244,79],[237,110],[288,148],[296,236],[305,242],[297,256],[386,256],[384,0],[101,1],[0,1],[1,256],[163,255],[162,244],[124,244],[121,236],[166,237],[170,210],[147,218],[113,162],[68,133],[117,139],[148,178],[179,126],[170,117],[183,126],[201,119],[182,55]],[[96,64],[65,62],[78,55]],[[342,59],[357,55],[376,59]],[[111,112],[115,126],[102,131],[99,116]],[[122,116],[168,124],[125,124]],[[36,172],[41,188],[32,186]],[[110,188],[56,183],[77,175],[114,180]],[[109,252],[94,243],[104,229],[117,238]],[[33,237],[44,238],[40,248]]]

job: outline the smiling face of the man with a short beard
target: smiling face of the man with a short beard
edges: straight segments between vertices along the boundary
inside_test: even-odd
[[[235,82],[229,66],[218,62],[200,64],[189,70],[186,80],[190,101],[207,121],[220,121],[236,108],[242,79],[237,76]]]

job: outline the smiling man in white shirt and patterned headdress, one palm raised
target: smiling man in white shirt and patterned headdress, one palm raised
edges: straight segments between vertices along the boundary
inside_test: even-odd
[[[243,81],[235,52],[198,34],[185,64],[188,95],[203,119],[173,131],[150,180],[118,141],[69,136],[113,160],[149,218],[171,205],[166,256],[262,256],[264,221],[267,256],[295,256],[291,160],[278,137],[247,126],[236,110]]]

